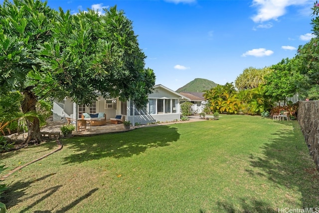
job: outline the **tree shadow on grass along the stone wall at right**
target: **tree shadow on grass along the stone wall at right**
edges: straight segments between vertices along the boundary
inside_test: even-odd
[[[282,129],[276,132],[274,135],[277,137],[269,139],[269,143],[261,147],[265,157],[250,157],[250,165],[262,172],[246,172],[252,176],[266,176],[278,186],[297,189],[302,195],[301,202],[305,208],[319,207],[319,174],[305,149],[307,145],[300,126],[297,122],[283,122],[282,125],[292,125],[293,130]],[[291,204],[292,207],[294,205]]]

